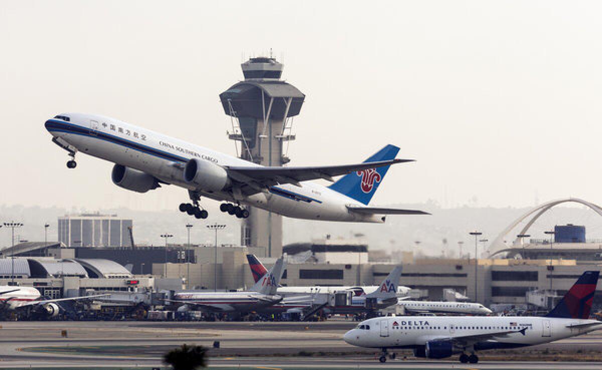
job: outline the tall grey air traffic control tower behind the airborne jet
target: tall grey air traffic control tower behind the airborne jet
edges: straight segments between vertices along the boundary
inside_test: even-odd
[[[235,140],[240,158],[265,166],[285,165],[290,162],[288,144],[295,140],[293,117],[305,94],[280,79],[284,66],[275,58],[250,58],[241,67],[244,81],[220,94],[224,113],[232,121],[228,137]],[[282,216],[249,208],[249,217],[241,221],[242,245],[265,248],[265,257],[281,256]]]

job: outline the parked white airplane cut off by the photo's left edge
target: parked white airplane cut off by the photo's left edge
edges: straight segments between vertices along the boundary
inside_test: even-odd
[[[57,302],[88,300],[106,297],[110,294],[85,295],[83,297],[46,299],[32,286],[0,285],[0,315],[17,312],[26,316],[39,314],[48,317],[58,316],[60,306]]]

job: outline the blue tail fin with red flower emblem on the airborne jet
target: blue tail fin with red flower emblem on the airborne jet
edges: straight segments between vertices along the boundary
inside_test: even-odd
[[[364,163],[395,159],[397,153],[399,153],[399,147],[389,144],[370,158],[366,159]],[[376,193],[376,189],[378,189],[378,186],[385,178],[386,171],[389,170],[389,167],[391,166],[353,171],[352,173],[341,177],[337,182],[330,185],[329,188],[368,205],[372,196]]]

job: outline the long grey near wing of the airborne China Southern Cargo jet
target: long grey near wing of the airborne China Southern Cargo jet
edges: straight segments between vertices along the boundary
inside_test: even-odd
[[[396,163],[414,162],[414,159],[391,159],[390,161],[364,162],[347,165],[326,165],[317,167],[240,167],[226,166],[232,179],[248,185],[272,187],[283,183],[297,185],[301,181],[325,179],[333,181],[333,176],[341,176],[353,171],[383,167]]]

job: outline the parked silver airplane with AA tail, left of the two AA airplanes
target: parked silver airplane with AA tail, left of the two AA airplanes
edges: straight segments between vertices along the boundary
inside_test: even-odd
[[[280,257],[265,276],[246,292],[178,292],[169,301],[185,305],[184,310],[208,312],[252,312],[272,306],[282,300],[276,293],[284,272],[284,258]]]

